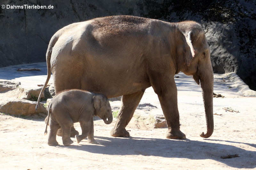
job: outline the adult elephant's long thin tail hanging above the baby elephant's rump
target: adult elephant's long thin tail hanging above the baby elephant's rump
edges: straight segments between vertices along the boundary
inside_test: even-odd
[[[39,102],[40,102],[40,99],[41,99],[41,95],[42,93],[44,92],[45,90],[45,87],[47,86],[48,82],[49,82],[49,79],[51,77],[51,55],[52,55],[52,48],[53,46],[55,45],[55,43],[57,42],[59,36],[56,36],[56,35],[53,35],[50,42],[49,42],[49,45],[48,45],[48,48],[47,48],[47,52],[46,52],[46,63],[47,63],[47,78],[46,78],[46,81],[44,83],[44,86],[42,87],[42,90],[38,96],[38,100],[37,100],[37,104],[36,104],[36,110],[39,106]]]

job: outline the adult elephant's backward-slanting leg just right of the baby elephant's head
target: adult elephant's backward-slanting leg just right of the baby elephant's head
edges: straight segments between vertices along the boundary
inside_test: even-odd
[[[118,113],[117,121],[115,127],[111,130],[110,134],[113,137],[130,137],[129,132],[126,131],[125,127],[132,119],[132,115],[140,103],[140,99],[142,98],[145,89],[124,95],[122,98],[121,107]]]

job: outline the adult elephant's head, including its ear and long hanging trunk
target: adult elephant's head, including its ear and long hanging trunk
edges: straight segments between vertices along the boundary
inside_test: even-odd
[[[201,137],[210,137],[213,133],[213,71],[210,58],[210,47],[207,43],[202,26],[193,21],[185,21],[178,23],[178,30],[182,37],[180,42],[183,47],[183,58],[177,50],[177,58],[180,58],[178,63],[180,70],[186,75],[193,75],[194,80],[199,85],[201,84],[205,116],[207,123],[207,133],[204,132]],[[180,50],[181,51],[181,50]]]

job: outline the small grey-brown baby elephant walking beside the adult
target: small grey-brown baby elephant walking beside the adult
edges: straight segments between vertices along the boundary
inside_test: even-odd
[[[82,90],[68,90],[56,95],[48,106],[48,120],[44,135],[47,134],[47,125],[50,120],[50,134],[48,145],[58,145],[57,130],[62,129],[62,142],[70,145],[70,129],[73,123],[79,122],[82,135],[76,135],[77,143],[88,136],[88,143],[97,143],[93,137],[93,115],[99,116],[106,124],[113,120],[108,98],[102,94]]]

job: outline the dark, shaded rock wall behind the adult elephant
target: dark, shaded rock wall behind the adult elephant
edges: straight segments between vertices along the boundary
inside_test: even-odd
[[[53,9],[0,8],[0,67],[45,61],[52,35],[68,24],[109,15],[204,27],[214,73],[235,72],[256,90],[256,1],[249,0],[2,0],[0,5],[53,5]]]

